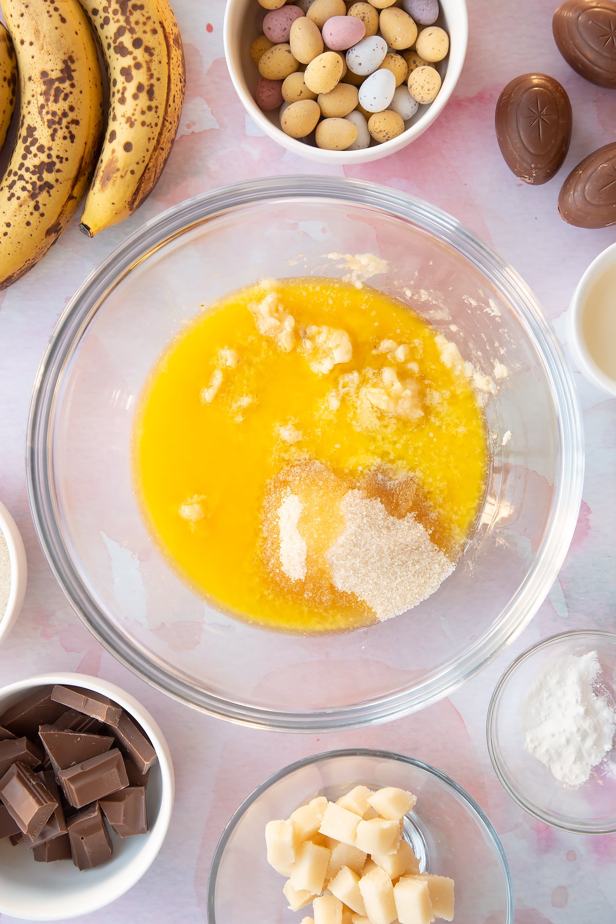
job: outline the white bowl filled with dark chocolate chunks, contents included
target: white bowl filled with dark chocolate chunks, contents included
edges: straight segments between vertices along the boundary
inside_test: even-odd
[[[174,792],[160,728],[119,687],[50,674],[0,689],[0,914],[115,901],[163,845]]]

